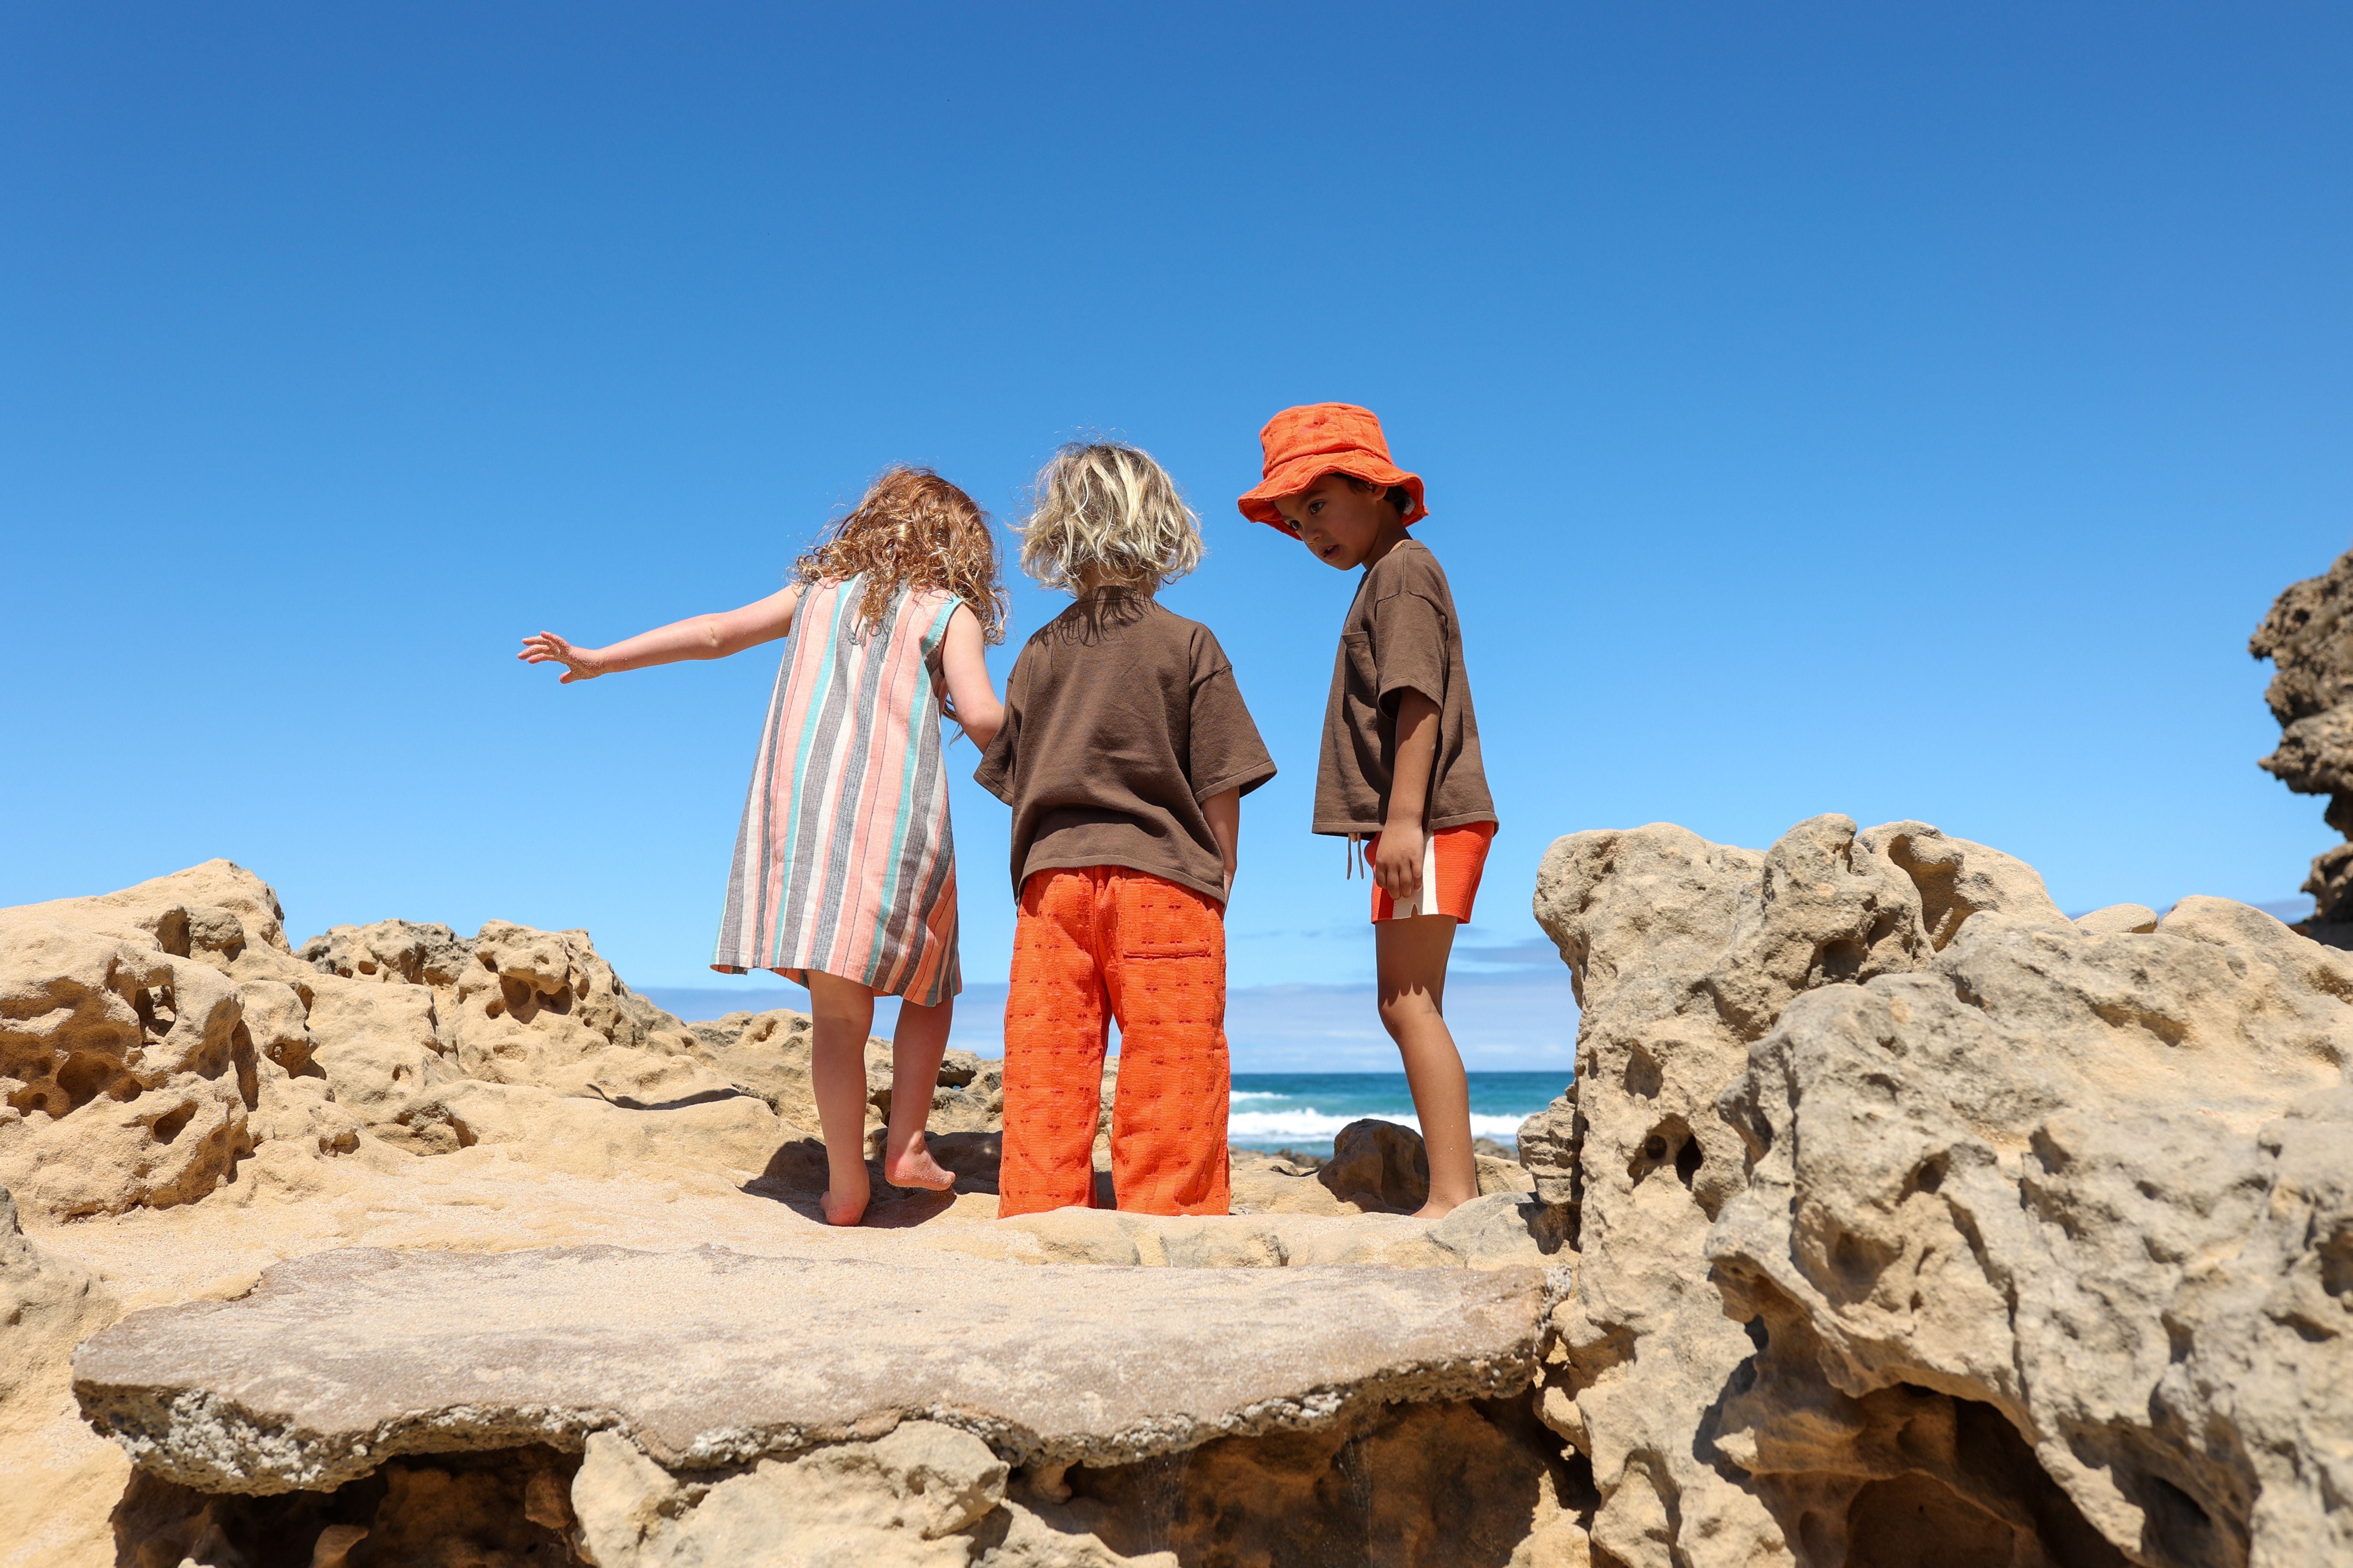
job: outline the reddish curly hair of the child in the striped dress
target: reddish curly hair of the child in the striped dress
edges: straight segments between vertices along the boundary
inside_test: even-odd
[[[972,496],[929,468],[885,468],[847,517],[793,562],[798,583],[866,578],[859,618],[875,623],[901,588],[953,592],[1005,642],[998,536]]]

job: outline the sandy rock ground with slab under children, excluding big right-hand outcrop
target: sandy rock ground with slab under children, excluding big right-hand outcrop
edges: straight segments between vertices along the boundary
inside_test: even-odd
[[[868,1041],[871,1138],[889,1095]],[[1518,1166],[1407,1220],[1419,1138],[1367,1124],[1325,1161],[1346,1192],[1235,1150],[1228,1220],[998,1222],[1000,1124],[998,1063],[951,1051],[958,1192],[878,1187],[831,1232],[802,1013],[682,1023],[581,931],[296,950],[228,863],[5,910],[0,1171],[33,1237],[0,1234],[0,1472],[31,1481],[0,1486],[0,1563],[1315,1561],[1301,1530],[1579,1561],[1525,1399],[1560,1232]],[[856,1385],[901,1342],[896,1392]],[[384,1401],[365,1436],[273,1403],[327,1387]]]

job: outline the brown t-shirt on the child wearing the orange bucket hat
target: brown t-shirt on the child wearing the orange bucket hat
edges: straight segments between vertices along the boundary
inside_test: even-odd
[[[1428,545],[1407,538],[1365,569],[1339,630],[1325,752],[1315,773],[1315,832],[1381,832],[1398,759],[1398,696],[1438,703],[1438,759],[1424,827],[1492,823],[1478,757],[1478,715],[1464,672],[1461,618]]]

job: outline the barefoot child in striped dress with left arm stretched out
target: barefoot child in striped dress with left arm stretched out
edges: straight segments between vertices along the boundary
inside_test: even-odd
[[[988,745],[1005,722],[981,649],[1005,637],[988,517],[927,468],[892,468],[758,604],[694,616],[609,649],[553,632],[520,658],[565,682],[784,637],[753,757],[711,966],[809,987],[809,1074],[826,1140],[828,1225],[866,1213],[866,1032],[899,997],[882,1175],[946,1190],[922,1145],[962,976],[955,842],[939,722]]]

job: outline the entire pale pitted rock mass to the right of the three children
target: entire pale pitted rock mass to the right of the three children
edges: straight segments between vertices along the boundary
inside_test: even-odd
[[[2353,1554],[2353,961],[1835,816],[1572,835],[1537,914],[1586,1009],[1520,1145],[1595,1561]]]

